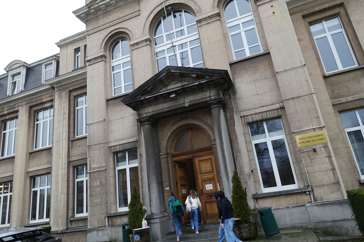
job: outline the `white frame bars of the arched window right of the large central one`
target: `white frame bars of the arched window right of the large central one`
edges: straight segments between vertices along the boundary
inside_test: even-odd
[[[235,52],[245,49],[245,54],[246,54],[245,57],[248,57],[248,56],[251,56],[251,54],[249,53],[249,48],[250,47],[254,47],[254,46],[258,46],[259,45],[260,52],[262,52],[262,44],[260,42],[260,37],[259,37],[258,29],[257,29],[257,24],[256,24],[256,21],[255,21],[254,15],[253,15],[252,4],[250,4],[250,1],[248,0],[249,5],[250,5],[250,9],[252,10],[252,12],[246,13],[245,15],[240,15],[239,9],[238,9],[238,5],[236,3],[236,0],[233,0],[233,1],[234,1],[234,4],[235,4],[235,9],[236,9],[236,12],[237,12],[238,17],[236,17],[234,19],[226,20],[225,7],[226,7],[226,5],[228,3],[231,3],[231,1],[227,1],[227,3],[224,5],[224,7],[223,7],[223,13],[224,13],[224,18],[225,18],[225,22],[226,22],[227,33],[229,34],[229,41],[230,41],[230,46],[231,46],[231,50],[232,50],[232,53],[233,53],[233,57],[234,57],[234,60],[237,60],[237,59],[240,59],[240,58],[236,58],[235,57]],[[243,29],[242,28],[242,23],[244,23],[246,21],[249,21],[249,20],[254,20],[254,25],[249,26],[249,27],[246,27],[246,28]],[[238,24],[240,25],[240,30],[234,31],[232,33],[229,33],[229,27],[232,27],[232,26],[238,25]],[[250,30],[250,29],[253,29],[253,28],[255,28],[255,31],[256,31],[256,34],[257,34],[258,44],[253,44],[253,45],[248,46],[248,42],[246,41],[246,37],[245,37],[245,33],[244,32],[246,30]],[[244,44],[244,48],[234,50],[233,42],[231,40],[231,36],[232,35],[235,35],[235,34],[238,34],[238,33],[241,33],[242,40],[243,40],[243,44]],[[260,53],[260,52],[258,52],[258,53]],[[254,54],[258,54],[258,53],[254,53]],[[244,58],[244,57],[241,57],[241,58]]]

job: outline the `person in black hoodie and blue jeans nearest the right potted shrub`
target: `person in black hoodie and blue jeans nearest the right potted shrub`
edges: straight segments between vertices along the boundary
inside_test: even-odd
[[[221,201],[221,227],[225,230],[226,242],[242,242],[233,232],[234,209],[225,193],[220,191],[218,197]]]

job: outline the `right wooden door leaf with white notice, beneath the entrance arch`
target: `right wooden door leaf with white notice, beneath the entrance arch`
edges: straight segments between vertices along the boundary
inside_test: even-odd
[[[203,222],[216,222],[218,211],[213,193],[217,191],[217,175],[213,155],[195,157]]]

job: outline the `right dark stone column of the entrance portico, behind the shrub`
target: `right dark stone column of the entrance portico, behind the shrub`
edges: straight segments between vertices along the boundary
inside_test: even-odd
[[[225,102],[222,98],[216,98],[207,102],[211,108],[212,120],[214,122],[217,154],[225,196],[231,200],[232,183],[231,178],[234,171],[233,152],[230,145],[228,129],[223,113]]]

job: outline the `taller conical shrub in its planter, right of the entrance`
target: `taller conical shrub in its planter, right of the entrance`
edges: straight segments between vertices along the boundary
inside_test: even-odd
[[[237,170],[234,170],[231,181],[233,183],[231,200],[234,208],[234,217],[240,218],[240,220],[234,223],[233,231],[239,238],[253,238],[258,235],[257,224],[250,220],[252,209],[248,204],[246,192],[241,184]]]

